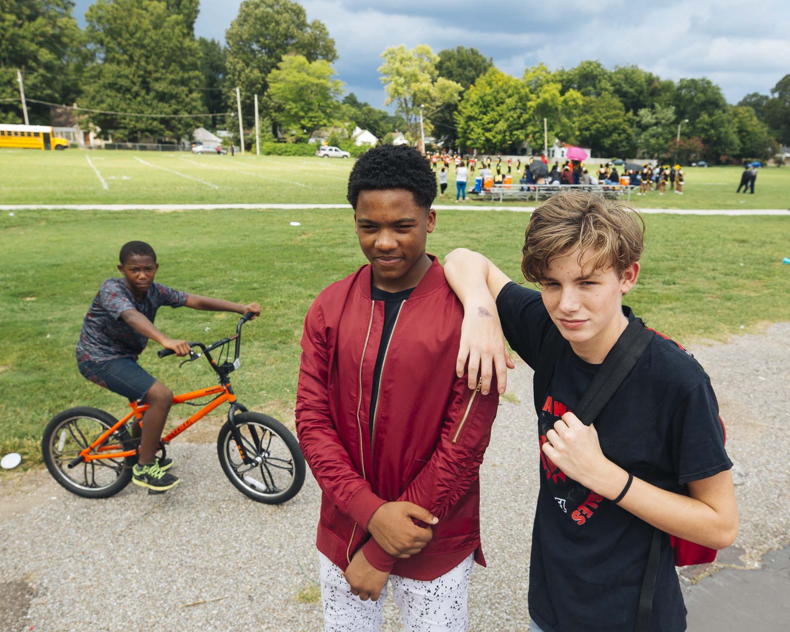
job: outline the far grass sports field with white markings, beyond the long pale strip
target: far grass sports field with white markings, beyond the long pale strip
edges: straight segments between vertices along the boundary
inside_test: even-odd
[[[352,164],[352,160],[250,154],[3,149],[0,204],[342,204]],[[754,195],[735,194],[740,167],[686,167],[685,171],[683,196],[653,192],[632,196],[632,203],[673,209],[790,208],[790,168],[760,169]],[[454,178],[451,169],[445,202],[455,199]]]

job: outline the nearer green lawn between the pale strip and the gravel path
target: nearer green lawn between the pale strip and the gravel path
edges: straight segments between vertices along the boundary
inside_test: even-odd
[[[126,200],[133,195],[130,190]],[[525,213],[440,211],[429,251],[443,257],[457,246],[475,247],[517,279],[527,219]],[[688,343],[790,320],[790,265],[782,264],[790,256],[788,218],[647,216],[646,222],[642,276],[626,302],[649,325]],[[234,384],[240,401],[286,423],[307,307],[327,284],[365,263],[352,214],[340,210],[19,211],[0,216],[0,239],[0,454],[21,451],[28,463],[38,458],[47,420],[62,408],[93,405],[116,415],[125,408],[122,398],[81,378],[74,346],[96,290],[116,276],[119,246],[127,240],[156,248],[161,283],[261,303],[262,317],[244,329]],[[163,308],[156,319],[172,337],[205,342],[228,335],[235,322],[235,314],[186,308]],[[213,384],[204,364],[179,371],[175,358],[160,360],[157,345],[150,346],[141,364],[176,392]],[[183,408],[175,408],[174,420],[194,411]],[[205,427],[201,421],[186,439]],[[212,428],[201,438],[216,438]]]

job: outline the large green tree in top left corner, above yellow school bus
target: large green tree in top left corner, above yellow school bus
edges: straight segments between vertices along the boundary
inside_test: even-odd
[[[24,122],[17,69],[24,96],[51,103],[72,103],[79,94],[82,33],[69,0],[0,2],[0,118]],[[31,124],[50,124],[50,108],[28,101]]]

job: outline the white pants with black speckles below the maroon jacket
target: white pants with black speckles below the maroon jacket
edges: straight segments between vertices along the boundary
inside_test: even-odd
[[[469,577],[474,555],[433,581],[390,575],[377,601],[361,600],[351,592],[343,571],[318,553],[325,632],[378,632],[384,623],[388,588],[401,611],[406,632],[466,632]]]

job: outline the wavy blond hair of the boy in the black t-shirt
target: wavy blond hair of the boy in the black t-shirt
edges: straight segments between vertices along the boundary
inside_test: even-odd
[[[551,260],[580,250],[579,265],[589,276],[611,267],[617,276],[645,247],[645,220],[622,200],[600,193],[568,191],[538,205],[529,218],[521,249],[521,272],[532,283],[543,283]]]

